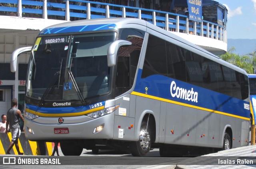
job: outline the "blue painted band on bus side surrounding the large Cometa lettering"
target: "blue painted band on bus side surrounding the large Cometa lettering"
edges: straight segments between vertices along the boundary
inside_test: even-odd
[[[179,80],[168,78],[162,75],[152,75],[146,78],[140,78],[142,70],[139,69],[134,92],[144,93],[153,97],[170,100],[181,105],[191,105],[190,107],[202,107],[204,109],[228,113],[240,117],[250,118],[250,110],[244,108],[244,104],[250,105],[249,102],[224,95],[209,89],[188,84]],[[197,102],[182,98],[172,97],[170,86],[175,82],[176,87],[180,87],[198,93]],[[174,92],[173,92],[174,93]],[[235,106],[234,106],[235,105]]]

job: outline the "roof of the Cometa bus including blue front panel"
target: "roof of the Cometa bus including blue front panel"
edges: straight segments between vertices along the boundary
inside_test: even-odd
[[[47,35],[47,34],[61,34],[61,33],[68,33],[68,32],[86,32],[86,31],[96,31],[96,30],[116,30],[119,28],[141,28],[142,30],[152,29],[157,31],[165,36],[168,36],[182,44],[181,47],[190,48],[191,50],[197,50],[199,53],[203,54],[204,56],[208,56],[211,60],[215,60],[216,62],[230,67],[242,74],[247,74],[243,69],[238,68],[224,60],[221,60],[218,56],[200,48],[199,46],[192,44],[191,42],[181,38],[180,36],[166,31],[158,26],[151,24],[145,20],[137,19],[137,18],[99,18],[99,19],[90,19],[90,20],[77,20],[72,22],[65,22],[61,24],[56,24],[52,26],[48,26],[43,29],[39,35]],[[198,53],[196,52],[196,53]],[[198,53],[198,54],[199,54]]]

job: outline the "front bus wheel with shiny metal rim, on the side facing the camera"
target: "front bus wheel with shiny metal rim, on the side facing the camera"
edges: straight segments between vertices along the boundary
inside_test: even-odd
[[[151,130],[150,125],[147,127],[147,121],[142,121],[140,127],[139,141],[130,143],[130,151],[133,156],[147,156],[151,148]]]

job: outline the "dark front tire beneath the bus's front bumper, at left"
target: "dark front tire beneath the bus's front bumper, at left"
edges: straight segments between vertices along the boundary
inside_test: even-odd
[[[63,141],[60,142],[60,149],[65,156],[80,156],[84,148],[76,142]]]

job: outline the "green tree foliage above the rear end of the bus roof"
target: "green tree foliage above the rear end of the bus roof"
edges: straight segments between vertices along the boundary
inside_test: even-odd
[[[233,53],[235,50],[236,49],[234,47],[229,48],[228,52],[220,55],[219,57],[230,64],[242,68],[248,74],[254,74],[254,70],[256,70],[256,52],[240,56]]]

